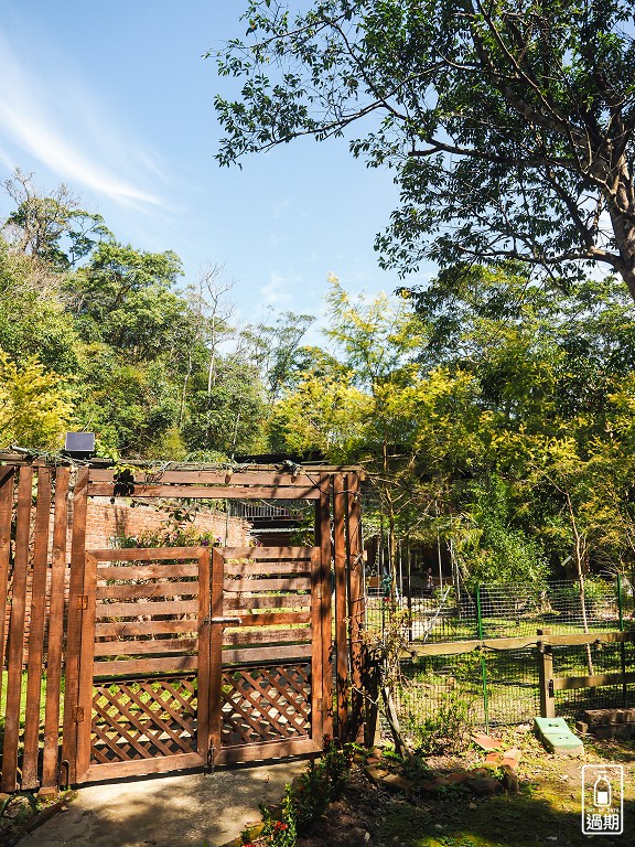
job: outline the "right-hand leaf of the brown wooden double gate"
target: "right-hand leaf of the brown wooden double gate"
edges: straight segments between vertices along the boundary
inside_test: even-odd
[[[213,555],[212,761],[321,750],[324,689],[333,684],[324,673],[330,573],[321,569],[320,548],[225,548]]]

